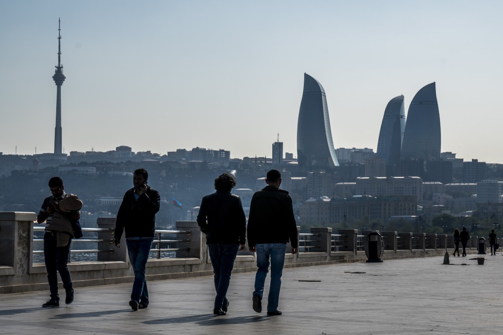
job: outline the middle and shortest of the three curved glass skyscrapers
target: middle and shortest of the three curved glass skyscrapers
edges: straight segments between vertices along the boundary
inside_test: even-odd
[[[384,158],[386,165],[394,165],[400,159],[404,130],[405,107],[403,95],[399,95],[392,98],[384,109],[381,132],[377,141],[377,157]]]

